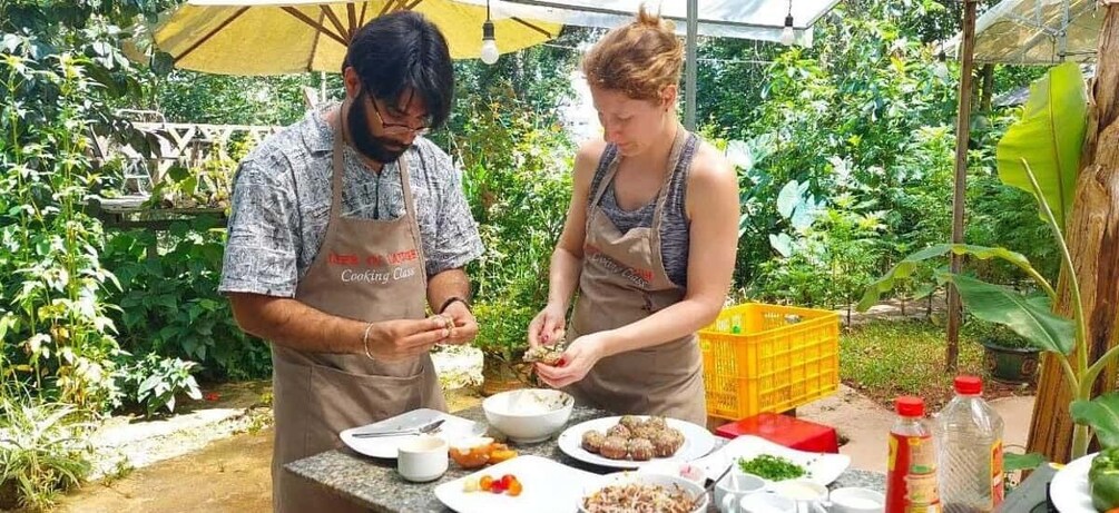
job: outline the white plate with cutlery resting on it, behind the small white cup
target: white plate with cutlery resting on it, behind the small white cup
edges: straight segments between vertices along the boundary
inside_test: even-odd
[[[439,427],[439,431],[433,435],[443,438],[449,443],[453,443],[457,438],[477,436],[486,430],[485,426],[467,420],[462,417],[455,417],[439,410],[421,408],[408,411],[407,414],[401,414],[396,417],[387,418],[379,422],[347,429],[338,436],[342,439],[344,444],[349,446],[349,448],[366,456],[373,456],[375,458],[396,458],[397,447],[399,447],[404,440],[413,438],[416,435],[356,438],[354,434],[388,429],[407,429],[416,426],[423,426],[435,419],[443,419],[443,424]]]

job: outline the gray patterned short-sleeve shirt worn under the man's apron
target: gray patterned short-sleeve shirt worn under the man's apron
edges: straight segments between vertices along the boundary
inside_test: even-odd
[[[266,139],[241,162],[218,291],[292,297],[322,246],[330,220],[333,105]],[[394,219],[405,212],[401,170],[370,171],[345,146],[342,217]],[[478,226],[450,156],[423,137],[407,151],[408,178],[427,274],[482,254]]]

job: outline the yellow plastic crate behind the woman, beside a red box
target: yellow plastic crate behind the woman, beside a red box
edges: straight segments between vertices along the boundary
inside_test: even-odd
[[[787,411],[839,387],[835,312],[762,303],[732,306],[699,331],[699,346],[712,417],[737,420]]]

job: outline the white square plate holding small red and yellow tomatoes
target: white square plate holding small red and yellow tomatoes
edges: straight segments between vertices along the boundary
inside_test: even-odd
[[[499,479],[506,474],[517,476],[524,486],[520,495],[462,491],[467,478],[488,475]],[[601,478],[552,459],[525,455],[443,483],[435,487],[435,497],[459,513],[575,512],[583,491]]]

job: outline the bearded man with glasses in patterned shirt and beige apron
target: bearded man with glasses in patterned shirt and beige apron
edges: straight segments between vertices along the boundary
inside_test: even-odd
[[[451,110],[446,41],[420,15],[379,17],[342,77],[341,105],[264,141],[234,182],[219,289],[272,344],[278,512],[355,511],[283,465],[344,429],[445,410],[429,351],[478,331],[462,270],[482,253],[477,225],[450,158],[422,137]]]

